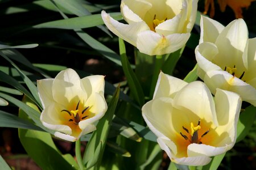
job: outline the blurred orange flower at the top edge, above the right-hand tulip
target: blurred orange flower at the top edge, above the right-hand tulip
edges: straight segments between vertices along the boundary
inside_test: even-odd
[[[221,12],[226,10],[228,5],[234,11],[236,18],[243,18],[242,8],[248,8],[255,0],[218,0]],[[210,6],[210,18],[214,16],[214,0],[205,0],[204,14],[207,14]]]

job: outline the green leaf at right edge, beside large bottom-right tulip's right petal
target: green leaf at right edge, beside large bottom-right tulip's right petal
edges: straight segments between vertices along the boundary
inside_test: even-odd
[[[240,117],[237,123],[237,141],[240,142],[246,137],[253,126],[256,117],[256,107],[253,105],[247,107],[245,111],[240,113]]]

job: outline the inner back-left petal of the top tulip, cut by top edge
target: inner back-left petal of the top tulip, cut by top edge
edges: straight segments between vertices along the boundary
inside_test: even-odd
[[[121,2],[121,13],[123,19],[127,23],[131,24],[134,22],[142,22],[142,19],[146,15],[146,12],[152,7],[151,3],[147,1],[127,1],[123,0]]]

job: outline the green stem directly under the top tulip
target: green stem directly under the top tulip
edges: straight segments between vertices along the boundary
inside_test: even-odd
[[[155,91],[155,85],[156,82],[158,80],[158,75],[160,73],[160,70],[162,68],[163,65],[163,56],[162,55],[157,55],[155,58],[155,68],[154,68],[154,73],[152,76],[152,82],[151,82],[151,87],[150,87],[150,99],[152,99],[153,95],[154,95],[154,91]]]

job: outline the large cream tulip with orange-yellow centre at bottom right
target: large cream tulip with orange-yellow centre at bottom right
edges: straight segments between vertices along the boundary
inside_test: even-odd
[[[213,99],[203,82],[160,73],[142,116],[172,162],[205,165],[234,146],[241,103],[234,92],[217,89]]]

